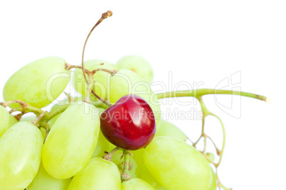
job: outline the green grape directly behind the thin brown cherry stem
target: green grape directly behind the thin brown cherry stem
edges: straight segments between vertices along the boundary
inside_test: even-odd
[[[100,65],[104,63],[104,65]],[[88,60],[85,62],[85,69],[89,69],[90,71],[94,69],[117,69],[117,67],[111,62],[107,62],[105,60]],[[87,75],[88,76],[88,75]],[[107,99],[107,82],[110,80],[110,73],[98,71],[93,75],[93,79],[95,80],[95,92],[102,99]],[[75,69],[73,74],[72,84],[75,87],[75,90],[78,91],[83,96],[86,96],[86,83],[85,78],[83,77],[82,69]],[[97,101],[93,94],[90,95],[90,100],[94,103],[96,101],[95,106],[101,104],[100,101]]]

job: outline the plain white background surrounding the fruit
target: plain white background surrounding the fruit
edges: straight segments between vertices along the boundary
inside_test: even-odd
[[[226,125],[219,169],[223,184],[285,188],[285,1],[1,1],[0,94],[11,74],[33,60],[56,55],[78,65],[86,35],[107,10],[114,14],[90,37],[86,60],[116,62],[141,55],[152,64],[154,81],[169,87],[169,72],[173,87],[181,81],[203,82],[200,88],[216,88],[240,72],[236,86],[269,96],[272,104],[233,97],[240,105],[234,111],[241,113],[239,118],[222,111],[214,96],[204,100]],[[231,105],[231,96],[217,98],[219,104]],[[162,106],[166,108],[191,107],[173,102]],[[200,121],[172,122],[190,138],[198,137]],[[218,121],[208,118],[206,125],[220,145]]]

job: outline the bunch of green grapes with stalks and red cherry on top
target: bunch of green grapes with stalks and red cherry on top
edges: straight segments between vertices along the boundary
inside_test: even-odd
[[[95,26],[111,15],[102,14]],[[225,145],[223,124],[223,147],[213,143],[219,157],[214,162],[215,156],[206,152],[210,137],[204,130],[195,143],[187,143],[186,134],[161,119],[159,99],[195,97],[204,126],[206,116],[218,116],[201,97],[235,91],[154,94],[152,81],[151,65],[135,55],[116,65],[89,60],[81,66],[45,57],[18,69],[4,86],[0,106],[0,189],[226,189],[217,174]],[[82,96],[67,94],[65,101],[44,111],[69,82]],[[198,150],[202,138],[205,148]]]

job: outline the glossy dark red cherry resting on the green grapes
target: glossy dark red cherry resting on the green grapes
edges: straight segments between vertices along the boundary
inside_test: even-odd
[[[100,116],[100,129],[113,145],[137,150],[149,145],[156,132],[154,113],[140,96],[122,96]]]

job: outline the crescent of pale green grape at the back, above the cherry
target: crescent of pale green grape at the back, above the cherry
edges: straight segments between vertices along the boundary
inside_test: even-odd
[[[149,62],[137,55],[127,55],[117,62],[118,69],[130,69],[136,72],[149,85],[153,82],[153,69]]]

